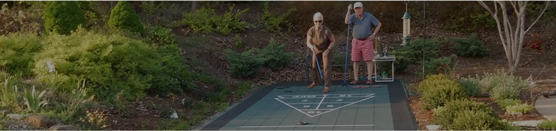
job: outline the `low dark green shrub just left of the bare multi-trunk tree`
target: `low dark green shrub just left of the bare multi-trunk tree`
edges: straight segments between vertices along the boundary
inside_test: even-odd
[[[481,57],[485,56],[489,51],[483,42],[477,39],[476,34],[469,38],[450,38],[450,41],[456,42],[451,48],[454,49],[458,56],[463,57]]]

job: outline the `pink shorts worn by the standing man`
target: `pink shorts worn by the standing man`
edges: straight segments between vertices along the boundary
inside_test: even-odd
[[[375,57],[373,41],[366,39],[365,41],[360,41],[359,39],[353,39],[351,41],[351,61],[359,62],[361,61],[361,56],[363,56],[364,61],[373,61]]]

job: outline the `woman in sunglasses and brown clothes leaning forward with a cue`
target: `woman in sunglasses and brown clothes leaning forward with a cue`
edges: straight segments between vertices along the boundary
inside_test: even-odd
[[[332,85],[332,49],[336,43],[334,34],[326,26],[322,25],[323,17],[320,12],[313,15],[313,24],[307,31],[307,47],[313,52],[312,55],[312,84],[309,88],[319,85],[319,70],[316,61],[322,64],[322,72],[324,73],[324,93],[329,92]],[[315,56],[316,54],[316,56]],[[316,58],[315,58],[316,57]]]

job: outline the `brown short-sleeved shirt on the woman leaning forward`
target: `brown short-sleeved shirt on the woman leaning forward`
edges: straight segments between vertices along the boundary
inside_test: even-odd
[[[310,42],[316,46],[319,50],[326,50],[330,46],[330,37],[332,37],[332,31],[326,26],[322,26],[322,30],[319,32],[318,27],[312,26],[309,31],[307,31],[307,36],[312,37]]]

